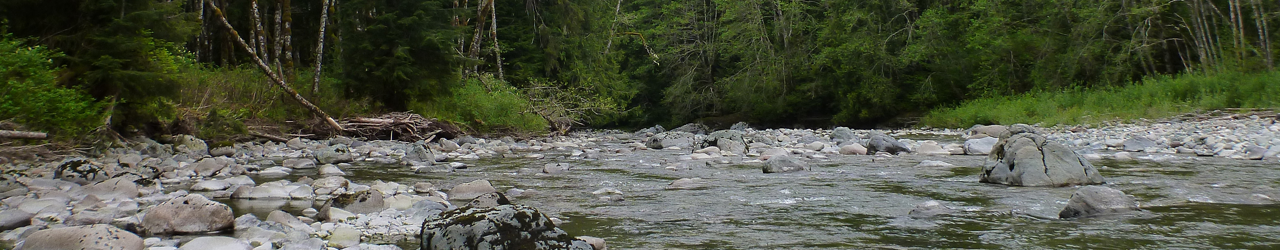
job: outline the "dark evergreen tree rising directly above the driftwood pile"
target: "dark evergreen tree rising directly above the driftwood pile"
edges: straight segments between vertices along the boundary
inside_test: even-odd
[[[444,1],[342,1],[338,32],[339,78],[353,97],[393,110],[410,101],[445,96],[457,82],[457,64]]]

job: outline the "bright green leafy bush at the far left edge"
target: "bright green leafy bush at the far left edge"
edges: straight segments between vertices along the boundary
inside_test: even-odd
[[[59,54],[0,35],[0,121],[76,138],[102,124],[102,104],[56,85]]]

